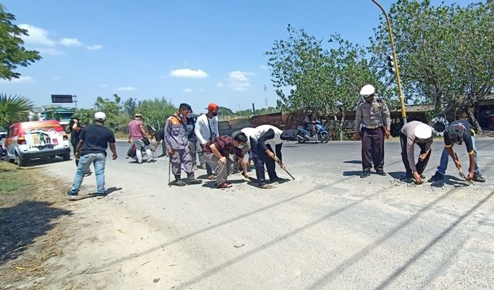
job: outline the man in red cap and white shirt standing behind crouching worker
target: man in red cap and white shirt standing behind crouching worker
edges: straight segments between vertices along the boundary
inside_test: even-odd
[[[218,105],[215,103],[211,103],[207,105],[207,113],[200,115],[197,121],[195,121],[194,133],[195,136],[198,138],[201,148],[204,148],[204,145],[210,142],[212,138],[219,136],[217,114]],[[212,175],[212,169],[207,163],[206,171],[208,179],[215,179],[215,176]]]

